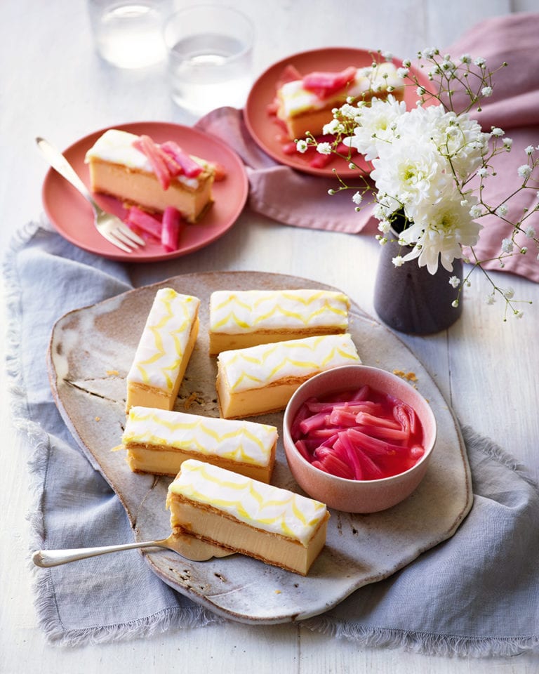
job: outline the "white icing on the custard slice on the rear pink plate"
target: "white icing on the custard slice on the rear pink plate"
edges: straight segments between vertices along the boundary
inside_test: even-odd
[[[312,91],[307,91],[302,86],[302,80],[297,79],[286,82],[279,91],[281,98],[281,117],[294,117],[308,110],[322,110],[328,104],[345,102],[345,98],[352,96],[359,98],[367,91],[387,93],[387,87],[401,89],[404,80],[398,77],[397,68],[390,62],[383,62],[374,68],[368,66],[359,68],[354,81],[340,91],[335,92],[329,98],[319,98]]]

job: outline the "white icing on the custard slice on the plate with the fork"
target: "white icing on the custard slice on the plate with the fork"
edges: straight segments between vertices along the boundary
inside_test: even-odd
[[[128,169],[153,173],[152,164],[150,164],[146,155],[133,147],[133,143],[137,139],[138,136],[135,136],[134,133],[109,128],[86,152],[85,161],[101,159],[102,161],[109,161],[111,164],[126,166]],[[197,157],[192,157],[192,159],[198,161]],[[199,164],[205,165],[202,161],[199,161]],[[199,186],[197,178],[187,178],[187,176],[180,175],[173,180],[178,180],[182,185],[192,187],[194,190]]]

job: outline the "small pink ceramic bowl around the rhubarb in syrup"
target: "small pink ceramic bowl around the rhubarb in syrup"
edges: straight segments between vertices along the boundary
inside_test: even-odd
[[[404,473],[380,480],[346,480],[324,473],[295,448],[290,432],[295,415],[303,402],[311,397],[355,390],[365,384],[380,392],[391,393],[415,410],[423,428],[425,454]],[[284,451],[295,481],[311,498],[345,513],[376,513],[409,496],[427,472],[436,435],[436,418],[425,398],[403,379],[366,365],[345,365],[310,378],[295,391],[284,412]]]

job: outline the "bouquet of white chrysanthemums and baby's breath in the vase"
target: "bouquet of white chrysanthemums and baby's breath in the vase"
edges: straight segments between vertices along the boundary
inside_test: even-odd
[[[373,55],[373,61],[377,58],[392,57]],[[497,70],[506,66],[503,63]],[[380,244],[399,244],[393,265],[399,267],[415,260],[434,275],[439,265],[452,272],[454,261],[463,259],[470,264],[463,277],[448,277],[457,291],[453,307],[458,308],[472,272],[481,269],[491,283],[488,303],[493,303],[495,296],[502,296],[505,315],[509,310],[521,317],[523,312],[512,289],[495,284],[482,267],[486,260],[476,255],[474,246],[481,235],[482,218],[495,215],[510,223],[507,214],[512,197],[521,190],[533,190],[533,206],[510,223],[512,234],[500,241],[496,259],[503,267],[507,256],[538,255],[538,234],[526,221],[539,210],[539,146],[526,147],[518,169],[518,187],[509,190],[503,201],[488,204],[484,187],[487,180],[496,178],[492,160],[510,152],[512,140],[501,128],[484,131],[472,114],[481,110],[481,100],[493,94],[497,70],[488,70],[483,58],[463,55],[453,60],[451,55],[442,56],[434,49],[418,54],[418,67],[426,71],[432,86],[420,83],[411,62],[404,61],[399,68],[406,85],[417,90],[417,105],[412,110],[391,94],[368,101],[349,99],[333,110],[333,120],[324,128],[324,134],[333,136],[333,142],[319,142],[307,135],[296,141],[296,149],[305,152],[314,145],[317,152],[339,154],[351,168],[357,168],[357,185],[345,182],[335,170],[338,186],[330,194],[352,190],[357,210],[364,206],[366,194],[371,194]],[[343,145],[350,150],[347,155],[342,154]],[[352,152],[356,150],[371,163],[370,172],[354,164]],[[532,250],[528,251],[530,246]]]

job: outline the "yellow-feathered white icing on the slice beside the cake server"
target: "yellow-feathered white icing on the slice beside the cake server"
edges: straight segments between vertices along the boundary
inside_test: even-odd
[[[212,505],[251,527],[293,538],[304,546],[327,511],[324,503],[312,498],[194,459],[182,463],[168,491]]]

